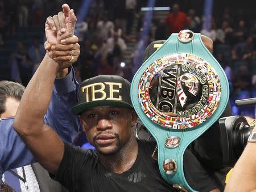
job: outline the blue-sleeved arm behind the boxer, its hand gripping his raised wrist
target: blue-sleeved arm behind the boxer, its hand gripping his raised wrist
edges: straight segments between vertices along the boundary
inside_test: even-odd
[[[78,56],[80,53],[79,44],[74,44],[77,42],[77,37],[68,37],[65,40],[67,41],[67,45],[72,46],[73,55]],[[55,56],[58,57],[60,61],[65,59],[65,55],[69,56],[70,52],[72,52],[71,50],[65,50],[67,46],[64,45],[65,49],[62,46],[63,45],[60,44],[56,45],[55,52]],[[55,80],[55,88],[53,89],[55,93],[52,95],[52,105],[49,106],[44,120],[44,122],[51,125],[56,130],[57,134],[60,135],[61,139],[66,142],[72,141],[76,134],[74,127],[77,128],[79,126],[77,125],[78,122],[76,122],[77,117],[68,110],[68,108],[71,108],[76,102],[76,88],[74,87],[76,83],[74,83],[75,80],[73,78],[74,75],[71,70],[65,78]],[[68,103],[68,101],[71,101],[71,103]],[[66,114],[64,110],[67,110]],[[57,115],[61,117],[57,118]],[[23,140],[13,129],[13,122],[14,118],[0,119],[0,182],[2,173],[5,172],[5,170],[22,167],[27,164],[35,163],[36,161],[31,151],[28,150]],[[63,122],[63,127],[61,127],[60,122]]]

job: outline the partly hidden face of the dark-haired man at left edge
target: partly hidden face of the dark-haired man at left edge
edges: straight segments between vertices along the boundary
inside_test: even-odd
[[[10,117],[15,117],[15,114],[17,112],[19,106],[19,101],[12,98],[8,97],[5,102],[5,112],[0,114],[0,118],[10,118]]]

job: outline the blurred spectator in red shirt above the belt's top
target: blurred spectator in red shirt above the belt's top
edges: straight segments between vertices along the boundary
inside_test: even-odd
[[[167,15],[165,23],[168,28],[168,36],[171,33],[179,33],[181,30],[185,29],[189,25],[189,20],[187,14],[180,11],[180,6],[178,4],[174,4],[171,7],[172,12]]]

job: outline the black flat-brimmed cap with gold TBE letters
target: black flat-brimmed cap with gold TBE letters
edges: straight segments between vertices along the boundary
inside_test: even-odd
[[[78,102],[72,108],[76,114],[101,105],[133,108],[130,99],[131,83],[117,75],[98,75],[84,80],[79,86]]]

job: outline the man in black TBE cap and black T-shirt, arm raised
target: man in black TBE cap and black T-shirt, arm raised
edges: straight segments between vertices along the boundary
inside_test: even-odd
[[[82,82],[79,88],[79,104],[73,111],[79,114],[87,139],[97,152],[63,142],[43,124],[57,69],[54,63],[38,69],[15,117],[15,130],[40,164],[69,191],[176,191],[163,180],[158,161],[152,158],[155,142],[134,136],[137,114],[130,100],[130,83],[121,76],[96,76]],[[42,78],[43,81],[38,80]],[[34,105],[27,105],[28,102]],[[193,189],[219,191],[188,150],[184,170]]]

